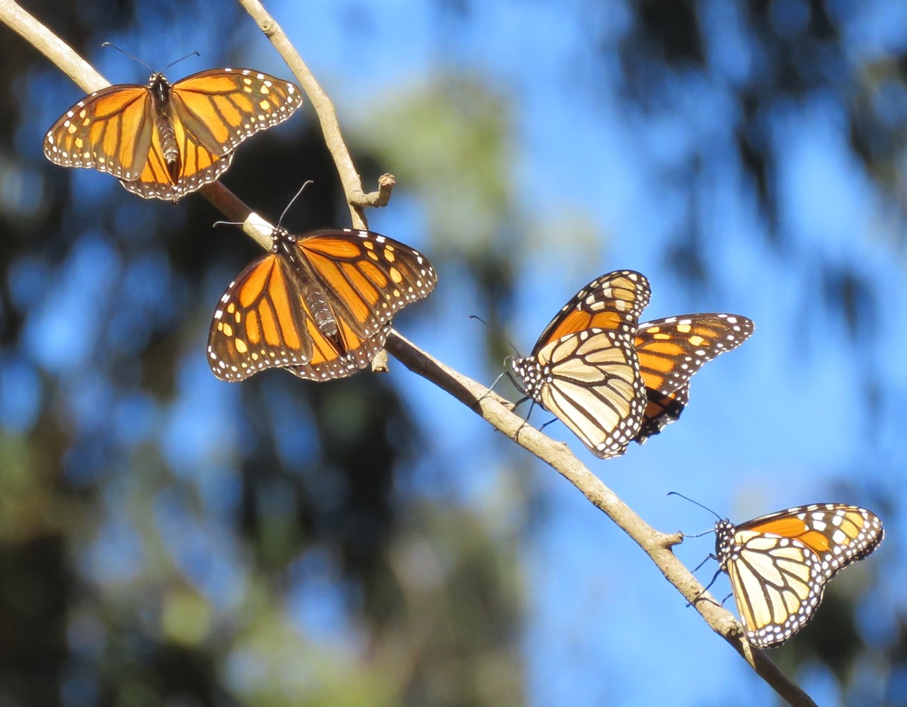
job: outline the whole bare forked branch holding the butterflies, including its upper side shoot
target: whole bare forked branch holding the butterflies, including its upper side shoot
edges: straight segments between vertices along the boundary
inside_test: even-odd
[[[298,57],[296,50],[289,44],[273,19],[264,11],[257,0],[239,0],[256,18],[262,31],[268,34],[271,42],[287,60],[297,79],[306,88],[309,100],[316,105],[322,130],[328,148],[334,155],[337,169],[346,190],[353,222],[357,228],[365,228],[366,221],[363,209],[366,206],[384,206],[394,186],[392,175],[384,175],[378,180],[379,190],[363,194],[358,173],[349,157],[331,102],[308,73],[305,63]],[[34,45],[39,51],[66,73],[83,91],[98,91],[108,82],[93,67],[51,33],[43,24],[26,13],[12,0],[0,0],[0,22],[7,24],[17,34]],[[288,58],[289,57],[289,58]],[[297,64],[294,66],[294,64]],[[304,78],[305,77],[305,78]],[[311,83],[312,85],[307,85]],[[314,96],[314,97],[313,97]],[[318,102],[316,102],[316,99]],[[323,100],[322,100],[323,99]],[[325,111],[325,116],[322,115]],[[219,182],[206,185],[200,189],[201,194],[218,208],[230,220],[243,224],[243,231],[253,237],[262,247],[270,247],[272,227],[268,222],[242,203]],[[449,392],[473,412],[483,417],[496,430],[515,441],[545,461],[561,476],[571,482],[590,502],[605,513],[634,542],[649,555],[668,582],[677,587],[686,600],[692,603],[697,612],[717,634],[741,654],[747,663],[766,681],[786,702],[795,707],[814,707],[814,702],[795,683],[781,673],[775,663],[759,649],[753,648],[742,637],[740,625],[733,615],[719,605],[708,594],[702,594],[702,586],[684,567],[671,547],[677,545],[683,537],[679,533],[665,534],[649,527],[642,518],[636,515],[617,495],[611,491],[590,470],[573,456],[570,448],[563,442],[551,438],[534,429],[528,422],[512,412],[512,404],[499,395],[489,391],[483,385],[447,368],[427,353],[407,341],[403,336],[391,330],[385,348],[395,355],[408,369],[423,376],[445,392]]]

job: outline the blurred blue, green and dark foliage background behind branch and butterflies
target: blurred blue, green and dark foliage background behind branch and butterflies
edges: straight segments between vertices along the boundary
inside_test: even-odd
[[[111,82],[290,78],[223,0],[25,4]],[[595,276],[645,316],[756,334],[683,419],[590,469],[688,533],[815,501],[887,539],[772,657],[821,704],[907,704],[907,4],[359,0],[268,9],[335,99],[371,228],[429,255],[397,328],[485,383]],[[762,705],[775,700],[551,469],[392,361],[221,383],[219,295],[258,255],[199,196],[44,160],[81,92],[0,28],[0,704]],[[348,226],[310,107],[223,181]],[[514,395],[509,383],[500,390]],[[533,412],[537,424],[548,418]],[[712,538],[678,555],[695,566]],[[707,581],[714,563],[700,570]],[[719,579],[717,596],[727,592]]]

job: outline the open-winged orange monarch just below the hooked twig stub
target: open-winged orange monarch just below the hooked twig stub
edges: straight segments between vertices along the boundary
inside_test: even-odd
[[[277,367],[314,381],[352,375],[382,348],[391,317],[437,281],[422,254],[371,231],[278,227],[271,239],[214,313],[208,356],[222,381]]]

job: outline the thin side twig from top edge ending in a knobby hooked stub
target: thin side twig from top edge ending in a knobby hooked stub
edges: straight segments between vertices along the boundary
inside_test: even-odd
[[[246,12],[258,23],[262,33],[268,37],[271,44],[274,44],[290,71],[301,84],[303,91],[306,92],[308,100],[312,102],[312,107],[315,108],[318,115],[318,122],[321,124],[321,131],[325,136],[327,150],[334,158],[337,174],[340,176],[340,182],[346,193],[346,203],[349,205],[353,227],[368,228],[366,207],[383,207],[387,204],[388,199],[391,198],[391,191],[394,189],[394,175],[382,175],[378,179],[377,191],[366,194],[362,190],[362,179],[349,156],[349,150],[346,149],[346,142],[340,132],[340,124],[337,122],[334,103],[328,98],[315,76],[308,70],[306,63],[297,53],[296,47],[290,43],[287,35],[280,29],[280,25],[271,15],[268,15],[264,6],[258,0],[239,0],[239,5],[246,9]]]

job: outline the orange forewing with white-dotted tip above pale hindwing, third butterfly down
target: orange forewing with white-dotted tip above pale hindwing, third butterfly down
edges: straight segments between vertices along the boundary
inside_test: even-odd
[[[583,329],[632,334],[650,297],[649,280],[635,270],[616,270],[598,277],[561,307],[541,333],[532,353],[538,353],[561,336]]]

